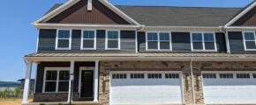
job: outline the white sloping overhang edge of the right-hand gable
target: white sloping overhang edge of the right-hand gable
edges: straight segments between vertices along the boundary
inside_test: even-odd
[[[230,25],[237,22],[239,18],[242,18],[247,12],[251,11],[256,6],[256,1],[254,0],[251,5],[249,5],[244,11],[240,12],[235,18],[232,18],[229,23],[224,25],[225,28],[228,28]]]

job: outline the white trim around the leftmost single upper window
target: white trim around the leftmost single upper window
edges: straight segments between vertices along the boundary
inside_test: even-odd
[[[58,45],[58,32],[62,31],[62,30],[66,30],[66,31],[70,31],[70,38],[69,38],[69,47],[68,48],[59,48]],[[72,50],[72,29],[56,29],[56,42],[55,42],[55,50]]]

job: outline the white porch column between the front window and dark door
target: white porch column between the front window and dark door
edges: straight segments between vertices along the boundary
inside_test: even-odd
[[[72,102],[72,81],[74,80],[74,65],[75,61],[71,61],[68,102]]]

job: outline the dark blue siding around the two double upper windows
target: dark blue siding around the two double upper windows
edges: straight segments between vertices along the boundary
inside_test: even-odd
[[[227,52],[225,34],[222,32],[215,32],[217,52]],[[190,32],[172,31],[171,32],[172,51],[169,52],[192,52]],[[146,51],[146,32],[138,32],[138,50],[139,52]]]

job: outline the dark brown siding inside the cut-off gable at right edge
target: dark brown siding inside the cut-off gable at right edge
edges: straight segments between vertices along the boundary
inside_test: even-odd
[[[238,19],[234,26],[256,26],[256,7]]]

